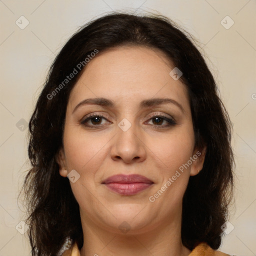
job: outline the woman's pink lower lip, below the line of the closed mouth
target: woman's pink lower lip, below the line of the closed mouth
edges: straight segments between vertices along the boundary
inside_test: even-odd
[[[108,183],[105,184],[110,190],[123,195],[136,194],[146,188],[151,184],[148,183]]]

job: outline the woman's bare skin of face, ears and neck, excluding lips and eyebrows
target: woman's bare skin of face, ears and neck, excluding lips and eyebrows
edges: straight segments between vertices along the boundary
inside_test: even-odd
[[[182,197],[189,176],[202,168],[205,148],[194,147],[187,90],[180,79],[169,75],[173,67],[158,49],[111,48],[87,63],[70,93],[63,148],[57,161],[61,176],[66,177],[72,169],[80,175],[70,185],[80,209],[84,237],[81,256],[190,253],[181,242]],[[86,104],[74,110],[80,101],[96,97],[111,99],[115,105]],[[183,111],[173,103],[139,107],[141,100],[150,98],[174,99]],[[103,118],[98,122],[100,125],[95,118],[87,120],[90,128],[80,120],[91,113]],[[164,127],[168,122],[162,120],[158,124],[152,114],[174,118],[176,124]],[[118,127],[123,118],[131,124],[126,131]],[[149,196],[197,151],[201,155],[150,202]],[[101,183],[120,173],[141,174],[154,183],[128,196]],[[125,233],[118,228],[123,221],[130,228]]]

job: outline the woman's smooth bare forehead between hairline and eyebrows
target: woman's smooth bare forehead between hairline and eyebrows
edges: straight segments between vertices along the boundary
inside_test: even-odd
[[[185,85],[169,75],[173,68],[171,60],[159,49],[110,48],[97,53],[86,64],[69,102],[74,105],[84,98],[107,97],[123,104],[144,98],[172,97],[186,104],[184,108],[189,107]]]

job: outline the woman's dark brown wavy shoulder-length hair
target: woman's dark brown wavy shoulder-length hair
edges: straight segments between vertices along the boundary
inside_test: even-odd
[[[195,146],[207,146],[203,169],[190,176],[183,197],[181,238],[190,250],[199,242],[217,249],[228,217],[233,189],[230,120],[218,96],[214,78],[190,35],[162,15],[114,12],[85,24],[71,36],[53,61],[29,121],[28,155],[31,169],[23,190],[32,255],[57,255],[70,237],[81,248],[83,233],[78,203],[68,178],[59,175],[55,160],[62,146],[70,90],[95,49],[142,45],[160,49],[182,71],[193,120]],[[96,56],[95,56],[96,57]],[[74,68],[78,73],[63,85]],[[61,89],[56,87],[61,84]],[[52,91],[56,93],[53,93]]]

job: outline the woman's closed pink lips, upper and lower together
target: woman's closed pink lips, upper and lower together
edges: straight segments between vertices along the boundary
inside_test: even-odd
[[[117,174],[103,182],[107,188],[122,195],[136,194],[153,184],[153,181],[139,174]]]

